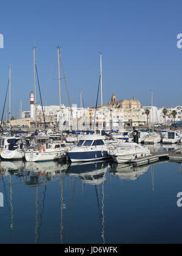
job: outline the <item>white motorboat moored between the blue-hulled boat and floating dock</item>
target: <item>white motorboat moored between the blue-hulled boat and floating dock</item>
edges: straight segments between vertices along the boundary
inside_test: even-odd
[[[115,149],[110,149],[109,154],[116,163],[127,163],[130,160],[151,155],[147,147],[137,143],[119,143]]]

